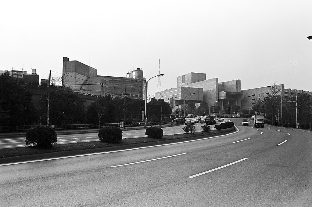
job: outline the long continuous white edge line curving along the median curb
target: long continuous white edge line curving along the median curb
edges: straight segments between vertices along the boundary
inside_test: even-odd
[[[107,153],[113,153],[113,152],[123,152],[123,151],[129,151],[129,150],[139,150],[139,149],[150,148],[150,147],[159,147],[159,146],[165,146],[165,145],[176,145],[176,144],[181,144],[181,143],[186,143],[186,142],[207,140],[207,139],[221,137],[221,136],[227,136],[227,135],[231,135],[231,134],[235,134],[235,133],[239,132],[239,129],[236,126],[234,126],[234,127],[236,128],[237,131],[234,131],[234,132],[232,132],[230,134],[206,137],[206,138],[197,139],[197,140],[188,140],[188,141],[175,142],[175,143],[169,143],[169,144],[163,144],[163,145],[153,145],[153,146],[146,146],[146,147],[137,147],[137,148],[131,148],[131,149],[125,149],[125,150],[115,150],[115,151],[108,151],[108,152],[95,152],[95,153],[82,154],[82,155],[71,155],[71,156],[65,156],[65,157],[47,158],[47,159],[41,159],[41,160],[29,160],[29,161],[23,161],[23,162],[12,162],[12,163],[7,163],[7,164],[0,164],[0,166],[16,165],[16,164],[23,164],[23,163],[30,163],[30,162],[40,162],[40,161],[46,161],[46,160],[59,160],[59,159],[64,159],[64,158],[82,157],[82,156],[89,156],[89,155],[100,155],[100,154],[107,154]]]

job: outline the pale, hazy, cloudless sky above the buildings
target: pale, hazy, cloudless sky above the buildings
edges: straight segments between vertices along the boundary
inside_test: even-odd
[[[62,76],[63,57],[126,77],[142,68],[161,76],[206,73],[241,89],[284,84],[312,91],[312,1],[5,1],[0,12],[0,70]],[[159,67],[160,60],[160,67]],[[158,78],[148,94],[157,92]]]

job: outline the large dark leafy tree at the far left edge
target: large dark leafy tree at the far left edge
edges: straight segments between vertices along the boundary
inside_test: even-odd
[[[9,72],[0,75],[0,114],[2,125],[32,125],[37,122],[37,111],[32,94],[24,81],[14,80]]]

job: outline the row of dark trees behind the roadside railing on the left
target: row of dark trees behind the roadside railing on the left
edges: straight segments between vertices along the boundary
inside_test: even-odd
[[[0,124],[2,126],[45,125],[47,119],[48,92],[39,98],[34,106],[32,93],[27,91],[24,81],[17,81],[8,72],[0,76]],[[31,86],[44,87],[31,83]],[[49,104],[49,125],[61,124],[98,124],[141,122],[145,101],[130,97],[99,96],[90,106],[79,98],[69,87],[60,90],[51,86]],[[149,121],[165,120],[171,113],[171,107],[163,99],[152,98],[147,103],[146,115]]]

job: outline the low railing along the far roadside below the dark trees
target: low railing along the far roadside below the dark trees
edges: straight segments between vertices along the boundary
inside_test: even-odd
[[[167,124],[167,121],[162,121],[161,124]],[[148,122],[148,126],[160,125],[159,121]],[[6,132],[25,132],[35,125],[27,125],[27,126],[0,126],[0,133]],[[50,125],[56,131],[61,130],[84,130],[84,129],[98,129],[99,124],[61,124],[61,125]],[[119,127],[119,123],[105,123],[100,124],[100,128],[103,126],[116,126]],[[125,123],[125,127],[135,127],[135,126],[144,126],[144,122],[129,122]]]

